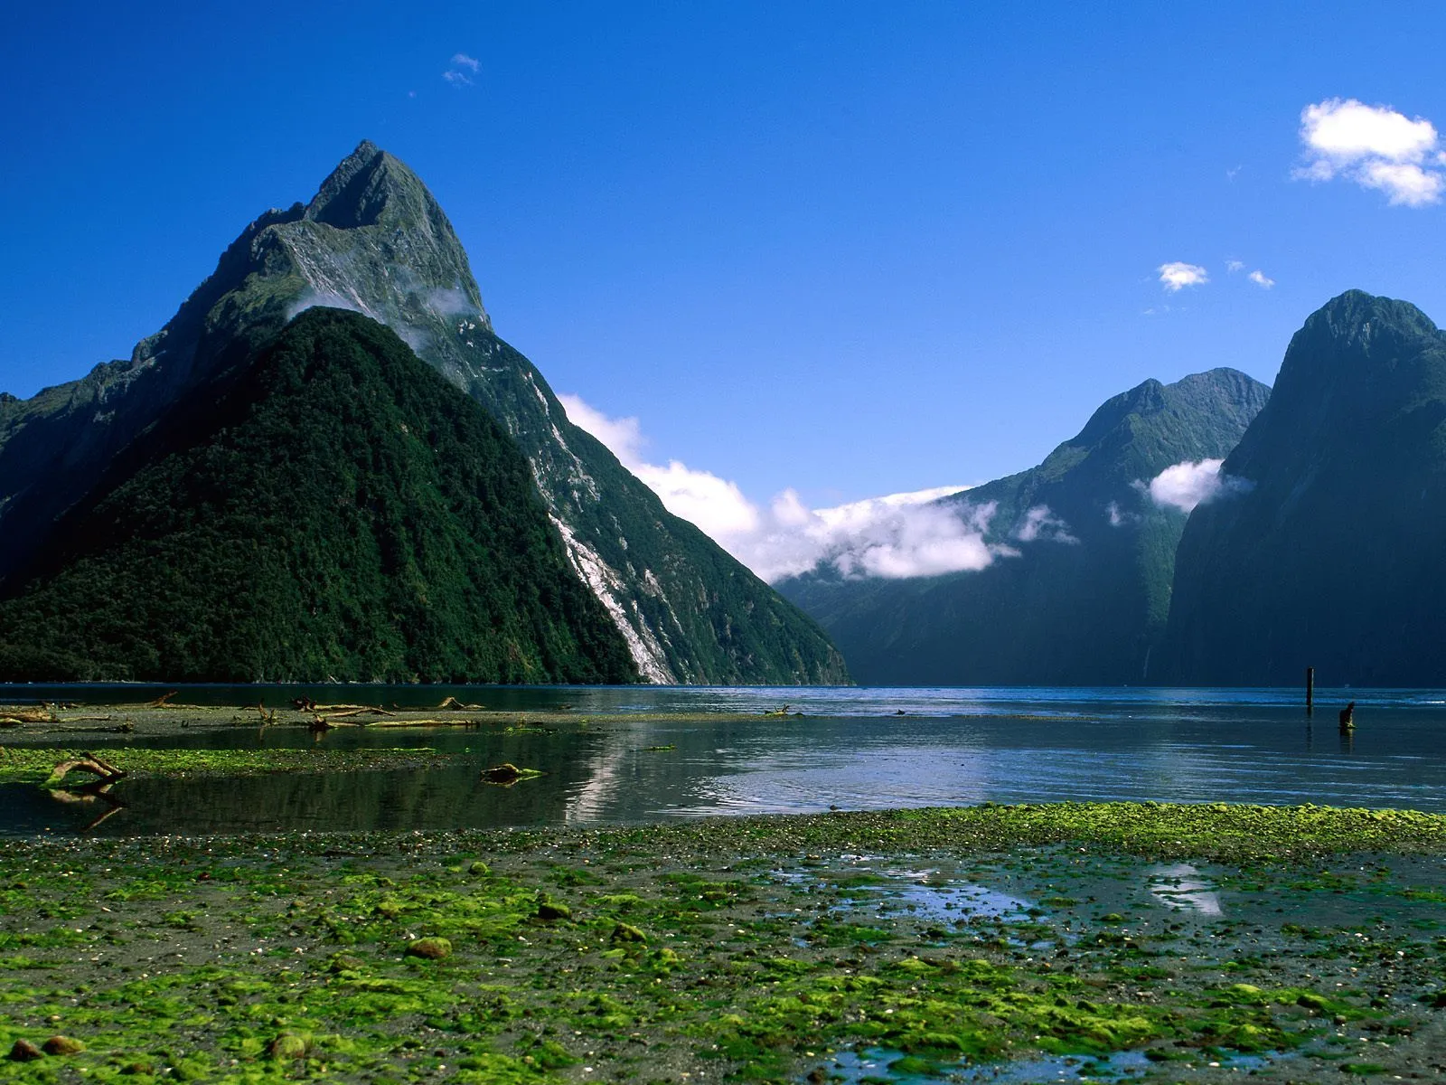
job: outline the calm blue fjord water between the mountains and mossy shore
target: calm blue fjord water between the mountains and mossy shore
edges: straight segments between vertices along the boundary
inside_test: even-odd
[[[301,694],[334,699],[337,690],[192,686],[178,700],[279,706]],[[1439,690],[1319,690],[1314,719],[1293,689],[362,686],[346,696],[435,706],[448,694],[538,718],[526,728],[338,729],[321,739],[328,748],[425,746],[450,755],[434,768],[124,780],[114,791],[123,816],[97,832],[586,825],[1063,800],[1446,810],[1446,692]],[[0,690],[7,700],[149,696],[136,686]],[[1356,731],[1342,738],[1336,712],[1348,700],[1356,702]],[[788,716],[763,715],[784,705]],[[166,741],[312,742],[301,729],[254,726]],[[117,752],[124,745],[116,735],[88,741]],[[480,783],[480,770],[500,761],[545,775],[506,788]],[[0,832],[65,833],[93,816],[33,787],[0,788]]]

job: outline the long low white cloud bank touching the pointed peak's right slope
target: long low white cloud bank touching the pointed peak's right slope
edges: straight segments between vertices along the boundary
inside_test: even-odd
[[[558,399],[573,424],[606,444],[662,499],[664,508],[697,524],[765,580],[807,573],[820,561],[846,577],[938,576],[983,569],[996,557],[1017,553],[985,542],[995,514],[992,502],[933,503],[964,486],[891,493],[823,509],[808,508],[795,490],[787,489],[761,508],[736,483],[710,472],[678,460],[667,467],[648,463],[636,418],[609,418],[576,395]],[[1058,531],[1054,524],[1043,529],[1047,537]]]

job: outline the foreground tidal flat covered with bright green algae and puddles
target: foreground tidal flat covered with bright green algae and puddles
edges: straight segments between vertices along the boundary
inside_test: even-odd
[[[23,839],[0,1078],[1430,1081],[1443,904],[1309,806]]]

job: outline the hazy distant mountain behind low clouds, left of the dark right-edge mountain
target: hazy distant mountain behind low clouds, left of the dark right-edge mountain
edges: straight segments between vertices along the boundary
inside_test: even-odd
[[[821,566],[778,587],[866,684],[1145,681],[1186,514],[1157,505],[1141,483],[1225,456],[1268,395],[1233,369],[1147,380],[1103,404],[1038,467],[936,502],[993,505],[986,569],[882,580]]]

